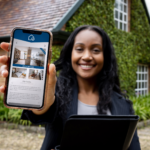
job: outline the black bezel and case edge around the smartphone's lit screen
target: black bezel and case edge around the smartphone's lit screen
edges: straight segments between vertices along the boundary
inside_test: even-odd
[[[46,32],[49,34],[49,44],[48,44],[48,55],[47,55],[47,61],[46,61],[46,67],[44,68],[45,69],[45,81],[44,81],[44,90],[43,90],[43,100],[42,100],[42,105],[40,107],[30,107],[30,106],[17,106],[17,105],[10,105],[7,103],[7,93],[8,93],[8,85],[9,85],[9,77],[10,77],[10,67],[11,66],[11,60],[13,59],[12,58],[12,48],[13,48],[13,41],[14,41],[14,32],[16,30],[24,30],[24,31],[31,31],[31,32]],[[33,33],[31,33],[33,34]],[[47,30],[41,30],[41,29],[31,29],[31,28],[23,28],[23,27],[16,27],[12,30],[11,32],[11,37],[10,37],[10,47],[9,47],[9,52],[8,52],[8,58],[9,58],[9,61],[8,61],[8,70],[9,70],[9,75],[8,77],[6,78],[6,81],[5,81],[5,85],[6,85],[6,92],[4,94],[4,104],[6,107],[9,107],[9,108],[22,108],[22,109],[42,109],[43,106],[44,106],[44,97],[45,97],[45,90],[46,90],[46,86],[47,86],[47,65],[48,63],[50,63],[50,60],[51,60],[51,55],[52,55],[52,50],[51,50],[51,47],[52,47],[52,39],[53,39],[53,35],[50,31],[47,31]]]

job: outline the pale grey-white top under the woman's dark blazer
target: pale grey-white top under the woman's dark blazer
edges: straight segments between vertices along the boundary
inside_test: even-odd
[[[78,115],[98,115],[95,105],[88,105],[78,100]],[[107,110],[107,115],[111,115],[110,110]]]

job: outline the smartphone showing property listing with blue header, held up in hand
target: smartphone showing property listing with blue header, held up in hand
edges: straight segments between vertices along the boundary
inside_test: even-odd
[[[17,27],[11,33],[10,43],[5,105],[41,109],[44,105],[47,65],[52,53],[52,33]]]

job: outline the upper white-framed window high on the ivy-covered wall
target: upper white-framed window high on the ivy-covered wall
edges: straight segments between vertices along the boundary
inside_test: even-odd
[[[115,0],[114,19],[118,29],[128,31],[128,0]]]

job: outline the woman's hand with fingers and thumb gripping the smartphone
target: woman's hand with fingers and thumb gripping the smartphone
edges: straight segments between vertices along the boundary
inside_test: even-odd
[[[0,47],[5,50],[9,51],[9,43],[1,43]],[[9,58],[7,56],[0,56],[0,63],[2,66],[0,67],[0,76],[6,78],[8,76],[8,61]],[[54,103],[55,100],[55,86],[56,86],[56,69],[54,64],[48,65],[47,69],[47,79],[46,79],[46,89],[45,89],[45,99],[44,99],[44,106],[42,109],[30,109],[33,113],[37,115],[41,115],[45,113],[50,106]],[[0,92],[5,93],[6,86],[2,85],[0,87]]]

